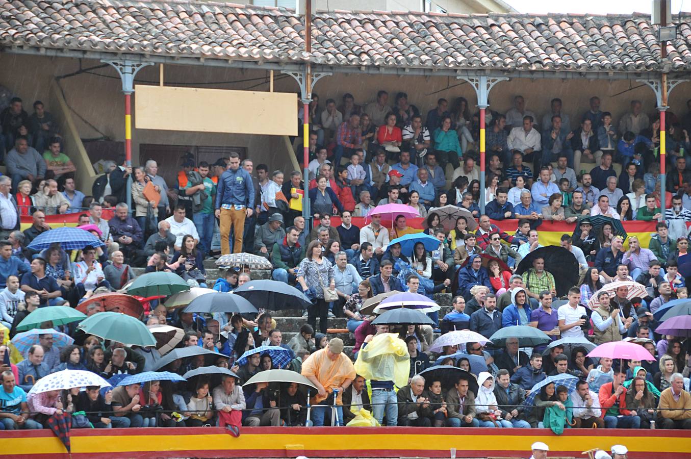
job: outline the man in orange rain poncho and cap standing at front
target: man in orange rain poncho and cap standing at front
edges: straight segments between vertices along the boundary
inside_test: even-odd
[[[312,422],[314,427],[323,426],[326,410],[334,405],[332,397],[341,396],[356,377],[352,362],[343,354],[343,340],[333,338],[326,348],[307,357],[302,375],[317,388],[318,392],[312,397]],[[334,389],[341,395],[335,394]],[[337,406],[337,419],[339,424],[343,423],[342,406]]]

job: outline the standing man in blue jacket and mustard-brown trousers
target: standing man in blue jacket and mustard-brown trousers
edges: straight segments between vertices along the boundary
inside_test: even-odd
[[[229,154],[229,169],[218,178],[216,189],[216,218],[219,219],[220,252],[230,253],[229,237],[234,230],[233,252],[243,251],[243,230],[245,217],[252,216],[254,209],[254,184],[252,176],[240,168],[240,155],[232,151]]]

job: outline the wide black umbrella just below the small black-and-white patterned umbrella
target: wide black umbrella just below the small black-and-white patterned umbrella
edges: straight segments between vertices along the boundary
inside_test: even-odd
[[[268,310],[303,309],[312,305],[300,290],[279,281],[249,281],[233,290],[255,306]]]

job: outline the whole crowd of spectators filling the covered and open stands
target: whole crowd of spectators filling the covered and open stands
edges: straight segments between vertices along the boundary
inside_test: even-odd
[[[330,422],[327,414],[335,404],[339,424],[364,407],[390,426],[529,428],[562,417],[572,427],[646,428],[656,421],[659,428],[691,429],[688,343],[656,334],[653,316],[668,301],[688,297],[679,260],[688,254],[691,221],[691,171],[684,156],[691,114],[677,118],[668,112],[668,208],[661,209],[660,124],[643,113],[638,101],[615,122],[611,113],[600,110],[598,97],[591,97],[578,125],[562,113],[558,99],[541,120],[526,109],[521,96],[505,115],[488,111],[486,189],[480,189],[478,115],[471,115],[462,97],[450,110],[440,99],[423,118],[404,93],[390,106],[386,91],[379,91],[376,102],[363,107],[345,94],[340,106],[330,99],[323,110],[315,95],[307,115],[310,225],[294,206],[305,185],[299,171],[285,180],[283,171],[264,164],[255,167],[252,159],[241,160],[237,153],[213,165],[183,158],[174,182],[158,175],[153,160],[142,167],[129,167],[124,158],[109,161],[106,174],[97,177],[85,196],[86,190],[75,189],[75,167],[62,153],[64,141],[50,113],[37,101],[29,117],[21,104],[15,98],[0,114],[8,151],[7,174],[0,176],[0,360],[11,354],[7,341],[28,312],[63,304],[76,307],[95,292],[120,290],[133,278],[133,267],[176,272],[191,285],[231,292],[249,281],[251,273],[231,269],[220,279],[207,279],[204,261],[249,252],[264,256],[272,264],[272,278],[305,292],[312,306],[305,310],[301,332],[283,344],[267,313],[253,322],[240,316],[171,312],[153,303],[148,324],[182,328],[186,335],[181,346],[220,351],[225,357],[214,364],[239,376],[225,376],[213,385],[201,380],[195,387],[152,382],[117,387],[106,395],[87,388],[53,398],[27,397],[37,380],[60,369],[86,368],[111,377],[148,371],[154,362],[149,351],[136,346],[77,336],[76,346],[57,348],[50,334],[41,335],[40,344],[16,365],[4,365],[0,427],[40,428],[46,422],[41,415],[70,409],[99,412],[90,418],[94,427],[218,422],[239,435],[240,424],[305,424],[307,400],[296,384],[240,387],[273,363],[258,353],[241,366],[236,359],[267,344],[290,348],[288,367],[319,389],[310,420],[317,426]],[[299,111],[299,116],[304,119],[305,113]],[[621,165],[620,174],[613,162]],[[144,197],[149,184],[160,195],[158,201]],[[481,200],[486,203],[484,214]],[[425,229],[409,226],[402,215],[387,226],[377,215],[361,227],[354,225],[353,217],[367,216],[388,203],[415,209]],[[477,230],[468,229],[463,216],[444,227],[435,209],[445,205],[467,209],[479,223]],[[112,218],[104,218],[104,211]],[[104,248],[28,248],[50,230],[46,216],[69,213],[79,214],[79,227],[99,237]],[[641,247],[638,238],[625,241],[612,223],[594,231],[591,217],[599,215],[656,221],[656,234],[648,247]],[[23,231],[21,217],[32,219]],[[339,223],[332,225],[335,218]],[[504,232],[492,223],[504,220],[515,222],[515,230]],[[560,240],[578,262],[580,281],[558,308],[552,307],[559,300],[556,280],[544,258],[533,257],[532,268],[515,274],[520,261],[542,247],[538,236],[543,221],[564,221],[578,229]],[[419,232],[437,238],[438,247],[430,251],[417,243],[404,253],[400,244],[390,243]],[[485,266],[481,254],[494,261]],[[640,283],[646,295],[631,299],[625,286],[611,297],[599,292],[614,281]],[[337,299],[326,301],[325,289],[335,290]],[[453,310],[441,318],[433,314],[435,325],[429,327],[372,326],[373,317],[361,312],[363,302],[392,290],[430,298],[450,293]],[[594,295],[598,301],[587,306]],[[96,305],[88,315],[100,310]],[[397,351],[385,357],[392,362],[410,359],[407,385],[397,384],[394,375],[359,375],[359,360],[353,365],[343,341],[326,336],[330,317],[347,319],[355,340],[354,359],[358,353],[366,355],[377,340],[395,335],[391,339]],[[475,342],[447,346],[441,354],[428,350],[436,333],[468,328],[489,338],[514,325],[536,327],[553,340],[580,337],[603,344],[639,339],[655,360],[596,362],[586,357],[585,348],[567,355],[561,346],[524,353],[511,339],[505,348]],[[72,327],[55,328],[75,335]],[[437,358],[442,365],[471,371],[464,355],[481,357],[488,368],[474,373],[477,393],[469,389],[468,377],[446,386],[418,374]],[[379,360],[361,360],[386,367]],[[183,374],[198,366],[199,360],[191,358],[166,369]],[[564,386],[547,384],[534,406],[524,404],[534,384],[547,375],[566,373],[580,378],[576,391],[569,395]],[[285,400],[290,404],[282,404]],[[156,406],[161,406],[160,413]],[[173,411],[182,413],[180,418],[171,417]]]

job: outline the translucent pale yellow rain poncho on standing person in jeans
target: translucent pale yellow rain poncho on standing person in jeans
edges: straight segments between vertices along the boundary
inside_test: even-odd
[[[410,354],[396,333],[382,333],[360,349],[355,371],[366,380],[393,381],[397,387],[408,384]]]

